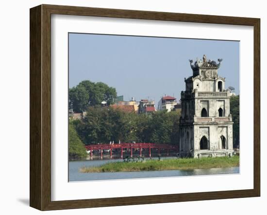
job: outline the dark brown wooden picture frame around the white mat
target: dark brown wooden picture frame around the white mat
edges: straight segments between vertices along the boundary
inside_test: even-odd
[[[247,25],[254,28],[254,188],[202,193],[51,201],[51,14]],[[30,9],[30,206],[39,210],[260,196],[260,19],[39,5]]]

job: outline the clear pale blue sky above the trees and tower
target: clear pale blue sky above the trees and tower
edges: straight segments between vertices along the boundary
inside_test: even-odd
[[[69,87],[83,80],[115,87],[125,101],[135,97],[156,104],[167,94],[180,99],[184,78],[192,75],[188,59],[217,61],[218,75],[239,94],[239,42],[144,36],[69,34]]]

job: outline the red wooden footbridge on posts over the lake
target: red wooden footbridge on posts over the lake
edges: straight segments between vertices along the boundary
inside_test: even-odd
[[[167,149],[167,156],[169,155],[169,150],[175,150],[178,152],[178,146],[170,144],[160,144],[160,143],[112,143],[112,144],[92,144],[85,145],[87,151],[90,150],[90,159],[92,160],[92,155],[94,150],[100,150],[100,158],[103,159],[103,150],[110,150],[110,159],[112,159],[112,149],[120,149],[120,158],[123,159],[123,149],[131,149],[131,158],[133,158],[133,148],[139,150],[140,157],[142,157],[142,150],[149,149],[149,157],[151,158],[151,149],[157,149],[158,155],[160,155],[160,149]]]

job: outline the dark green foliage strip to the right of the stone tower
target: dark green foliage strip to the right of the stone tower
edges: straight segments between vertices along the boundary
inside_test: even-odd
[[[230,113],[233,116],[233,145],[239,147],[239,95],[230,98]]]

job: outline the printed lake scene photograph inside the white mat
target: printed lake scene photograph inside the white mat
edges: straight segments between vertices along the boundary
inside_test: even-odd
[[[68,81],[69,181],[239,174],[239,41],[69,33]]]

